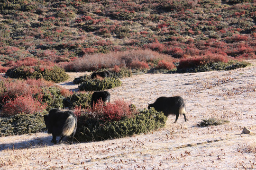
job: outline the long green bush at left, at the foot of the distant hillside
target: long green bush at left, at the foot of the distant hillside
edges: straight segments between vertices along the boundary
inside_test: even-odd
[[[63,82],[69,78],[63,68],[54,66],[50,69],[42,68],[39,66],[27,67],[22,66],[18,68],[11,68],[7,70],[6,76],[11,78],[44,78],[46,81],[53,81],[55,83]]]

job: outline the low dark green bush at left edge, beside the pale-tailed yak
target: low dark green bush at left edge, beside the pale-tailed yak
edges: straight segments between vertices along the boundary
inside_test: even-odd
[[[38,114],[18,114],[0,118],[0,136],[23,135],[46,130],[44,118]]]

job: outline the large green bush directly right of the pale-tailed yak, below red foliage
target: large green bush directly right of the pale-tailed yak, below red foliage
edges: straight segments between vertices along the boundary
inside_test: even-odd
[[[165,126],[166,116],[154,108],[140,110],[133,118],[123,118],[119,121],[101,122],[83,115],[78,119],[75,137],[79,141],[101,141],[106,139],[132,136],[148,133]]]

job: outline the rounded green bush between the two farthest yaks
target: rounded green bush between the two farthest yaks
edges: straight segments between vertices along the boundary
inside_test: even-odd
[[[88,79],[78,86],[81,91],[100,91],[111,89],[121,85],[121,81],[116,78],[107,77],[104,79]]]

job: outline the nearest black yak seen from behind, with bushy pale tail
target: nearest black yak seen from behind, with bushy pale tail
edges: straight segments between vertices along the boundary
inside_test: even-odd
[[[51,142],[57,143],[56,136],[61,136],[59,143],[64,136],[71,136],[70,144],[73,144],[73,136],[77,128],[77,118],[73,111],[51,109],[49,114],[44,115],[44,119],[48,133],[53,135]]]

